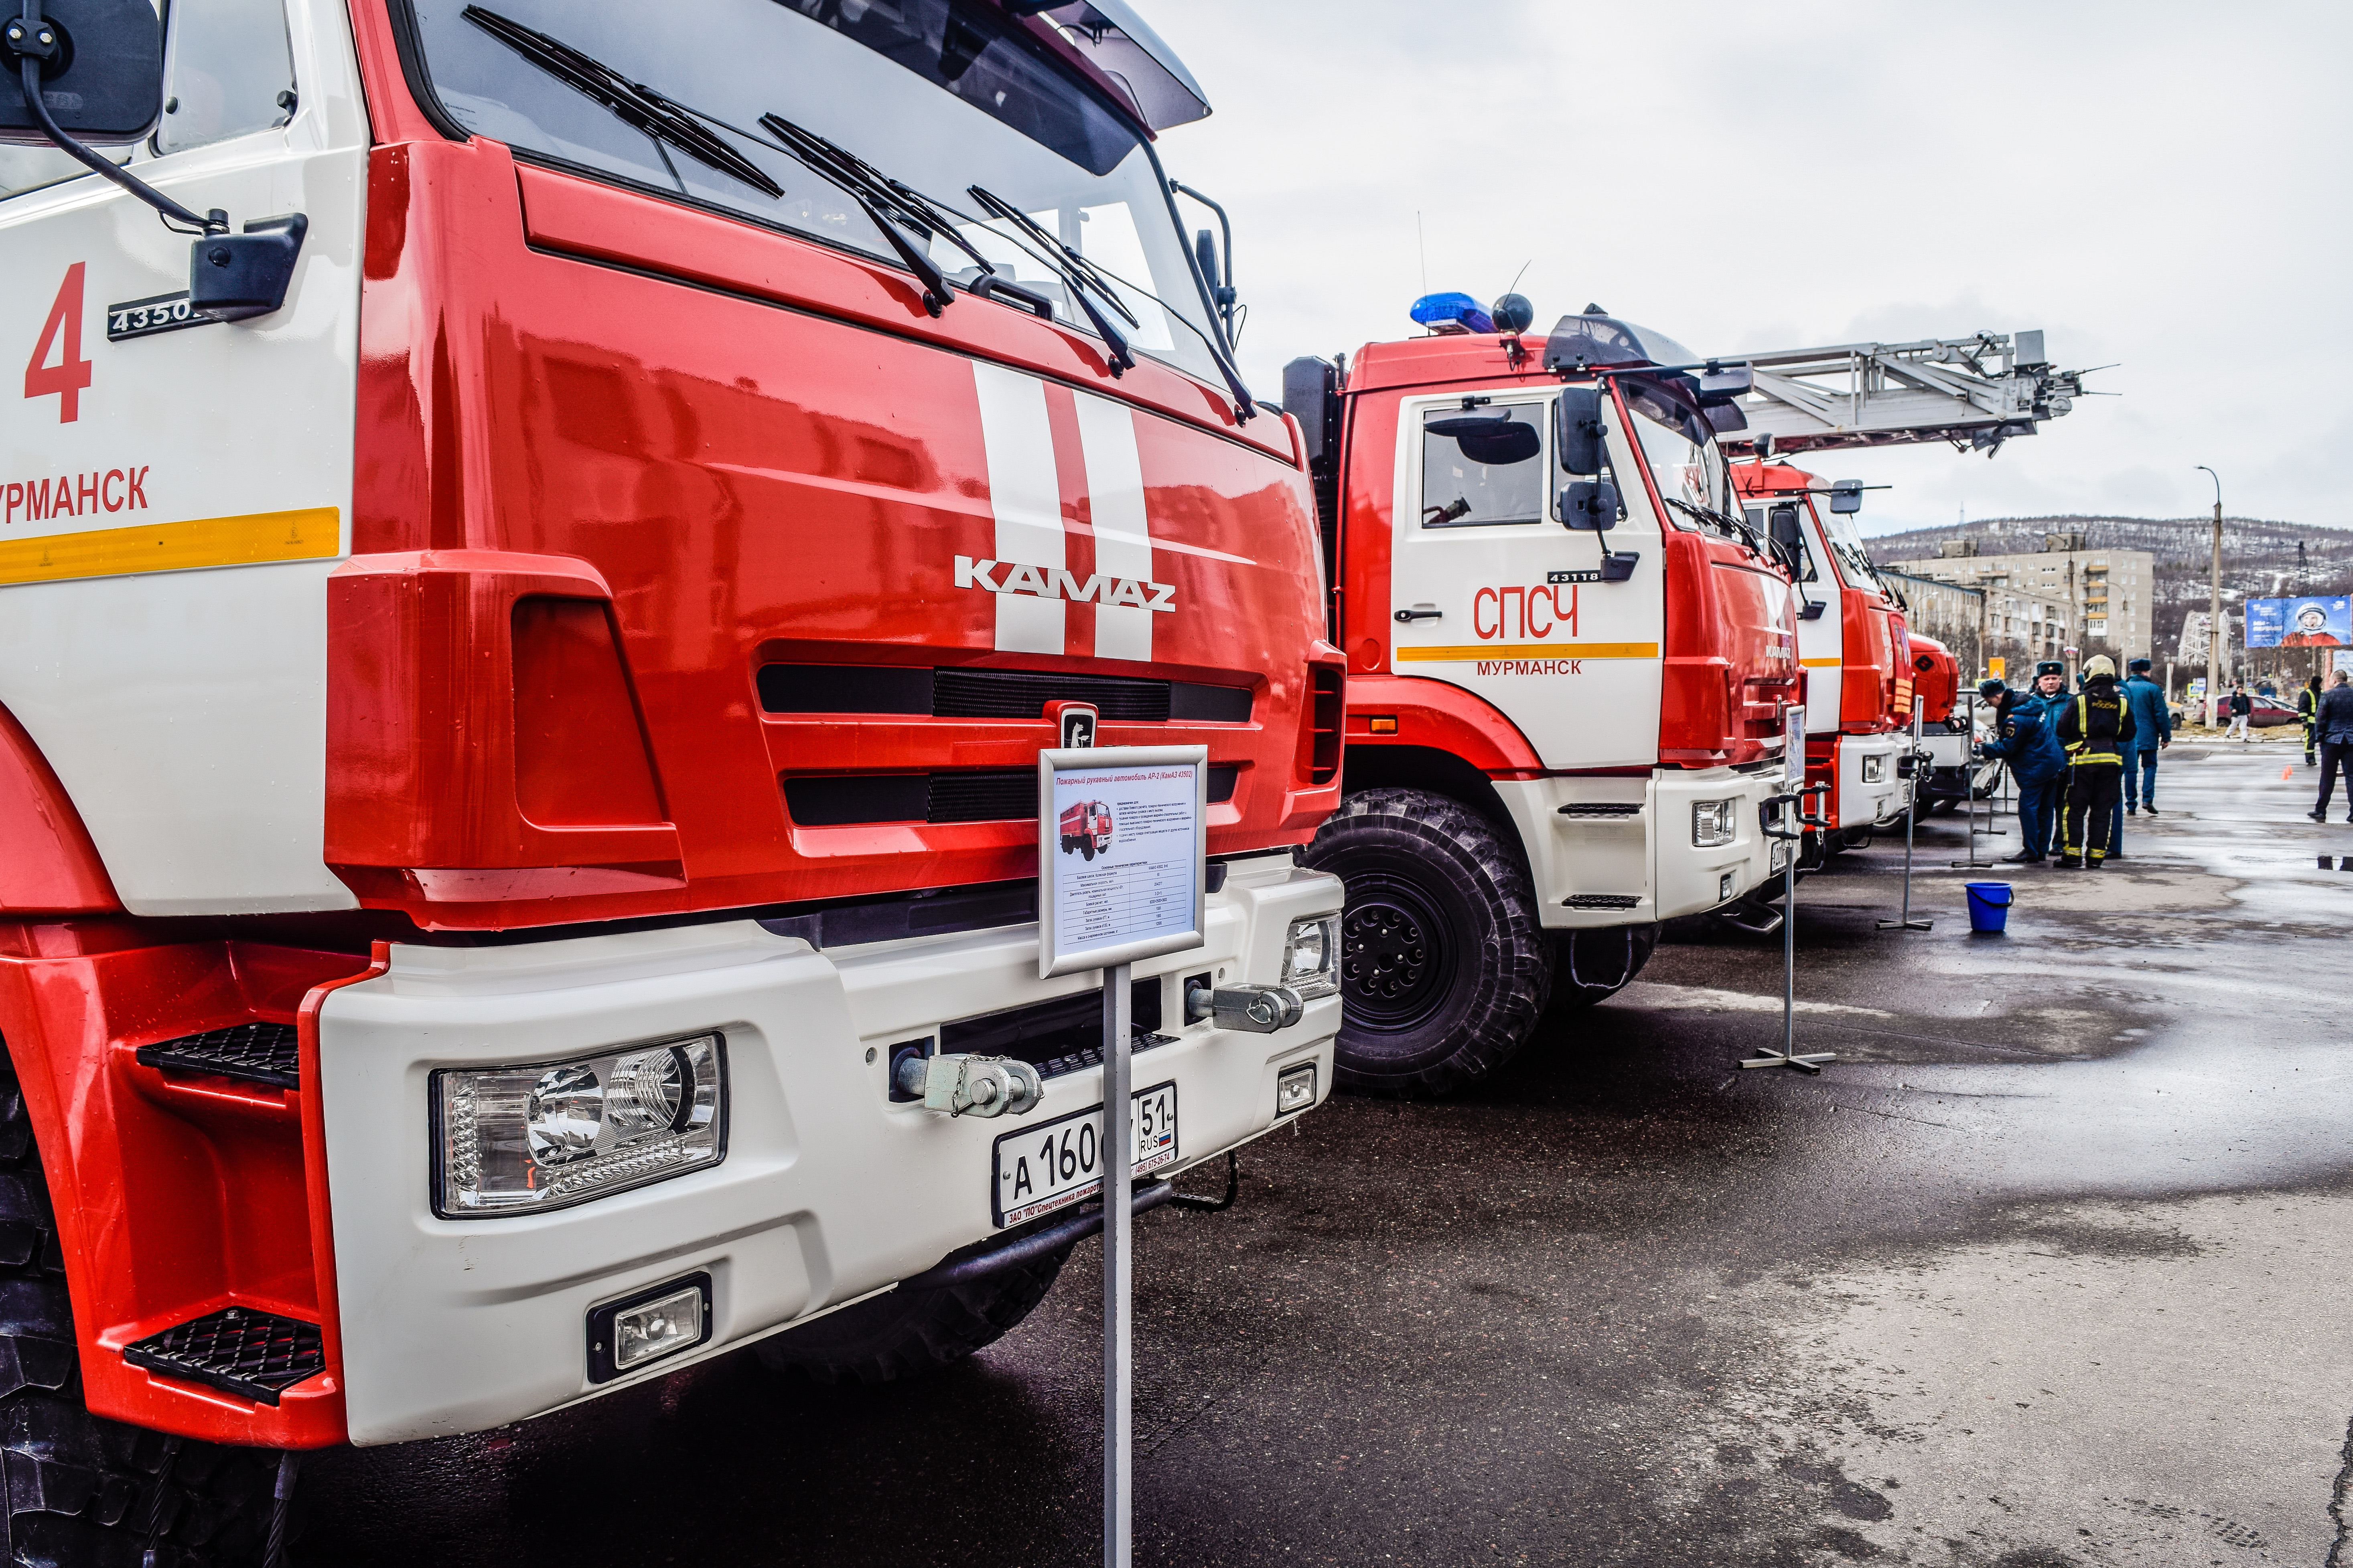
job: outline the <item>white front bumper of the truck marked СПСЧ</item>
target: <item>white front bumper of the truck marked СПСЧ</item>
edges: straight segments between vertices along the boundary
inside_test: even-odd
[[[1772,839],[1758,809],[1781,792],[1779,769],[1654,769],[1649,778],[1522,778],[1494,788],[1527,846],[1546,926],[1638,926],[1701,914],[1772,875]],[[1704,799],[1739,802],[1729,844],[1692,844],[1692,806]],[[1562,813],[1565,806],[1574,813]],[[1593,816],[1600,809],[1621,813]]]

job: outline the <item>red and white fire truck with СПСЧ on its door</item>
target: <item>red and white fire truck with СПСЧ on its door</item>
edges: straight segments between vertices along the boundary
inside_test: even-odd
[[[1497,1067],[1779,870],[1788,576],[1715,440],[1746,376],[1600,308],[1541,339],[1497,310],[1438,296],[1433,336],[1285,371],[1348,654],[1308,863],[1348,884],[1341,1084],[1388,1093]]]

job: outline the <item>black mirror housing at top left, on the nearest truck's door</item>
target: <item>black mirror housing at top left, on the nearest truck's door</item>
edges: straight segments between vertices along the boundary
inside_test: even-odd
[[[16,12],[16,5],[7,5]],[[127,143],[155,129],[162,113],[162,31],[148,0],[42,0],[42,31],[54,40],[21,40],[21,16],[0,16],[0,143],[49,146],[49,134],[24,101],[24,54],[49,59],[40,68],[40,99],[59,129],[80,141]]]

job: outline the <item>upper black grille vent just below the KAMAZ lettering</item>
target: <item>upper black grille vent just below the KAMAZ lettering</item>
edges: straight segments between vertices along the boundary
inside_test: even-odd
[[[767,712],[913,712],[936,719],[1038,719],[1047,703],[1094,703],[1113,724],[1247,724],[1247,686],[908,665],[762,665]]]

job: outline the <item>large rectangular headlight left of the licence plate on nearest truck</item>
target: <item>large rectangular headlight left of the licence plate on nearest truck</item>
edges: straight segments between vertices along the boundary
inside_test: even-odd
[[[727,1152],[718,1034],[529,1067],[433,1074],[433,1213],[482,1220],[586,1204]]]

